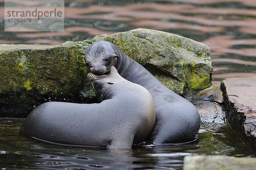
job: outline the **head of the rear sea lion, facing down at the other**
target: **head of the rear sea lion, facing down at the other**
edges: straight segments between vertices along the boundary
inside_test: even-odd
[[[108,41],[97,41],[87,47],[84,61],[87,73],[108,75],[111,66],[117,66],[118,58],[115,46]]]

